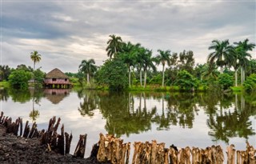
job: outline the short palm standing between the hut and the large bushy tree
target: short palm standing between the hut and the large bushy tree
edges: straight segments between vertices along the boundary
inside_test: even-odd
[[[97,70],[97,66],[94,64],[94,59],[90,58],[89,60],[82,60],[81,64],[79,65],[80,71],[87,76],[88,85],[90,85],[90,74],[93,74]]]

